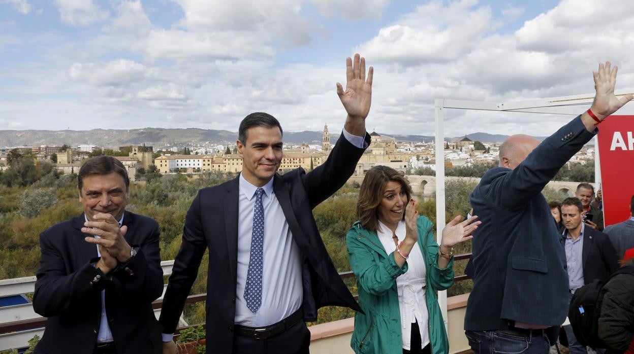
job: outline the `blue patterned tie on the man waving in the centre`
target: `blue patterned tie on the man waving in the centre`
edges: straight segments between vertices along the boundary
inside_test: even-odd
[[[247,285],[244,288],[244,300],[251,312],[256,312],[262,305],[262,263],[264,263],[264,207],[262,206],[264,189],[256,190],[256,205],[253,208],[253,233],[251,236],[251,253]]]

